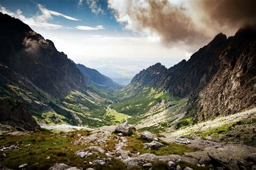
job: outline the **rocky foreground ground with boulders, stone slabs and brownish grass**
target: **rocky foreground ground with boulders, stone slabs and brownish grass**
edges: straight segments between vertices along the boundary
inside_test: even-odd
[[[14,132],[2,126],[2,169],[255,169],[256,147],[161,138],[128,124],[93,131]],[[18,135],[18,136],[17,136]]]

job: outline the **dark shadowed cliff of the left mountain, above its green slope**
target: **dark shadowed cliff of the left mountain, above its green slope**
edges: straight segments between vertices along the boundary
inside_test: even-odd
[[[0,62],[54,96],[85,87],[82,73],[66,54],[58,52],[20,20],[0,13]]]

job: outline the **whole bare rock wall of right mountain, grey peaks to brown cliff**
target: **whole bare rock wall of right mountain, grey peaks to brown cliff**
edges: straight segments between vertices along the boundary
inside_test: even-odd
[[[220,33],[188,61],[169,69],[157,63],[132,83],[190,96],[187,111],[199,121],[233,114],[255,104],[255,34],[255,29],[240,29],[230,38]]]

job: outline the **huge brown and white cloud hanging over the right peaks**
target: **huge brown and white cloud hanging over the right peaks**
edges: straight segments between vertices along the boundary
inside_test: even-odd
[[[169,46],[203,45],[219,32],[254,26],[255,6],[255,0],[108,0],[126,30]]]

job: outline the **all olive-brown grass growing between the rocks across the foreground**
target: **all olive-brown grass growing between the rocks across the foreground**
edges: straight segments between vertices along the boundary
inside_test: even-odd
[[[81,135],[86,137],[91,133],[92,132],[89,131],[52,133],[44,130],[42,132],[34,132],[29,136],[10,136],[4,134],[0,139],[0,146],[9,147],[11,145],[16,145],[21,147],[21,149],[4,151],[6,157],[2,154],[0,155],[1,165],[8,168],[18,169],[19,165],[28,164],[26,169],[48,169],[58,162],[84,169],[89,167],[96,167],[97,169],[126,169],[123,162],[115,158],[111,158],[112,160],[104,166],[83,164],[84,161],[93,161],[97,157],[106,158],[106,155],[104,153],[97,153],[93,154],[91,157],[80,158],[79,155],[75,154],[76,151],[93,145],[100,146],[105,151],[112,152],[115,150],[115,145],[118,143],[117,139],[120,138],[120,136],[113,133],[109,137],[109,140],[105,141],[102,145],[91,143],[83,145],[73,144],[73,141],[78,140]],[[165,143],[164,141],[160,141],[164,146],[159,150],[146,150],[143,148],[143,143],[145,142],[145,140],[139,137],[138,133],[135,133],[133,136],[127,137],[127,146],[123,147],[123,150],[128,150],[135,155],[137,155],[137,152],[140,152],[141,154],[153,153],[156,155],[183,155],[184,152],[196,151],[194,148],[185,145]],[[47,157],[50,157],[50,159],[46,159]],[[154,165],[155,168],[153,169],[158,169],[157,167],[159,164],[160,163]],[[166,166],[166,162],[164,165]],[[183,165],[182,163],[179,163],[179,165],[183,168],[185,166],[193,167],[193,165]]]

